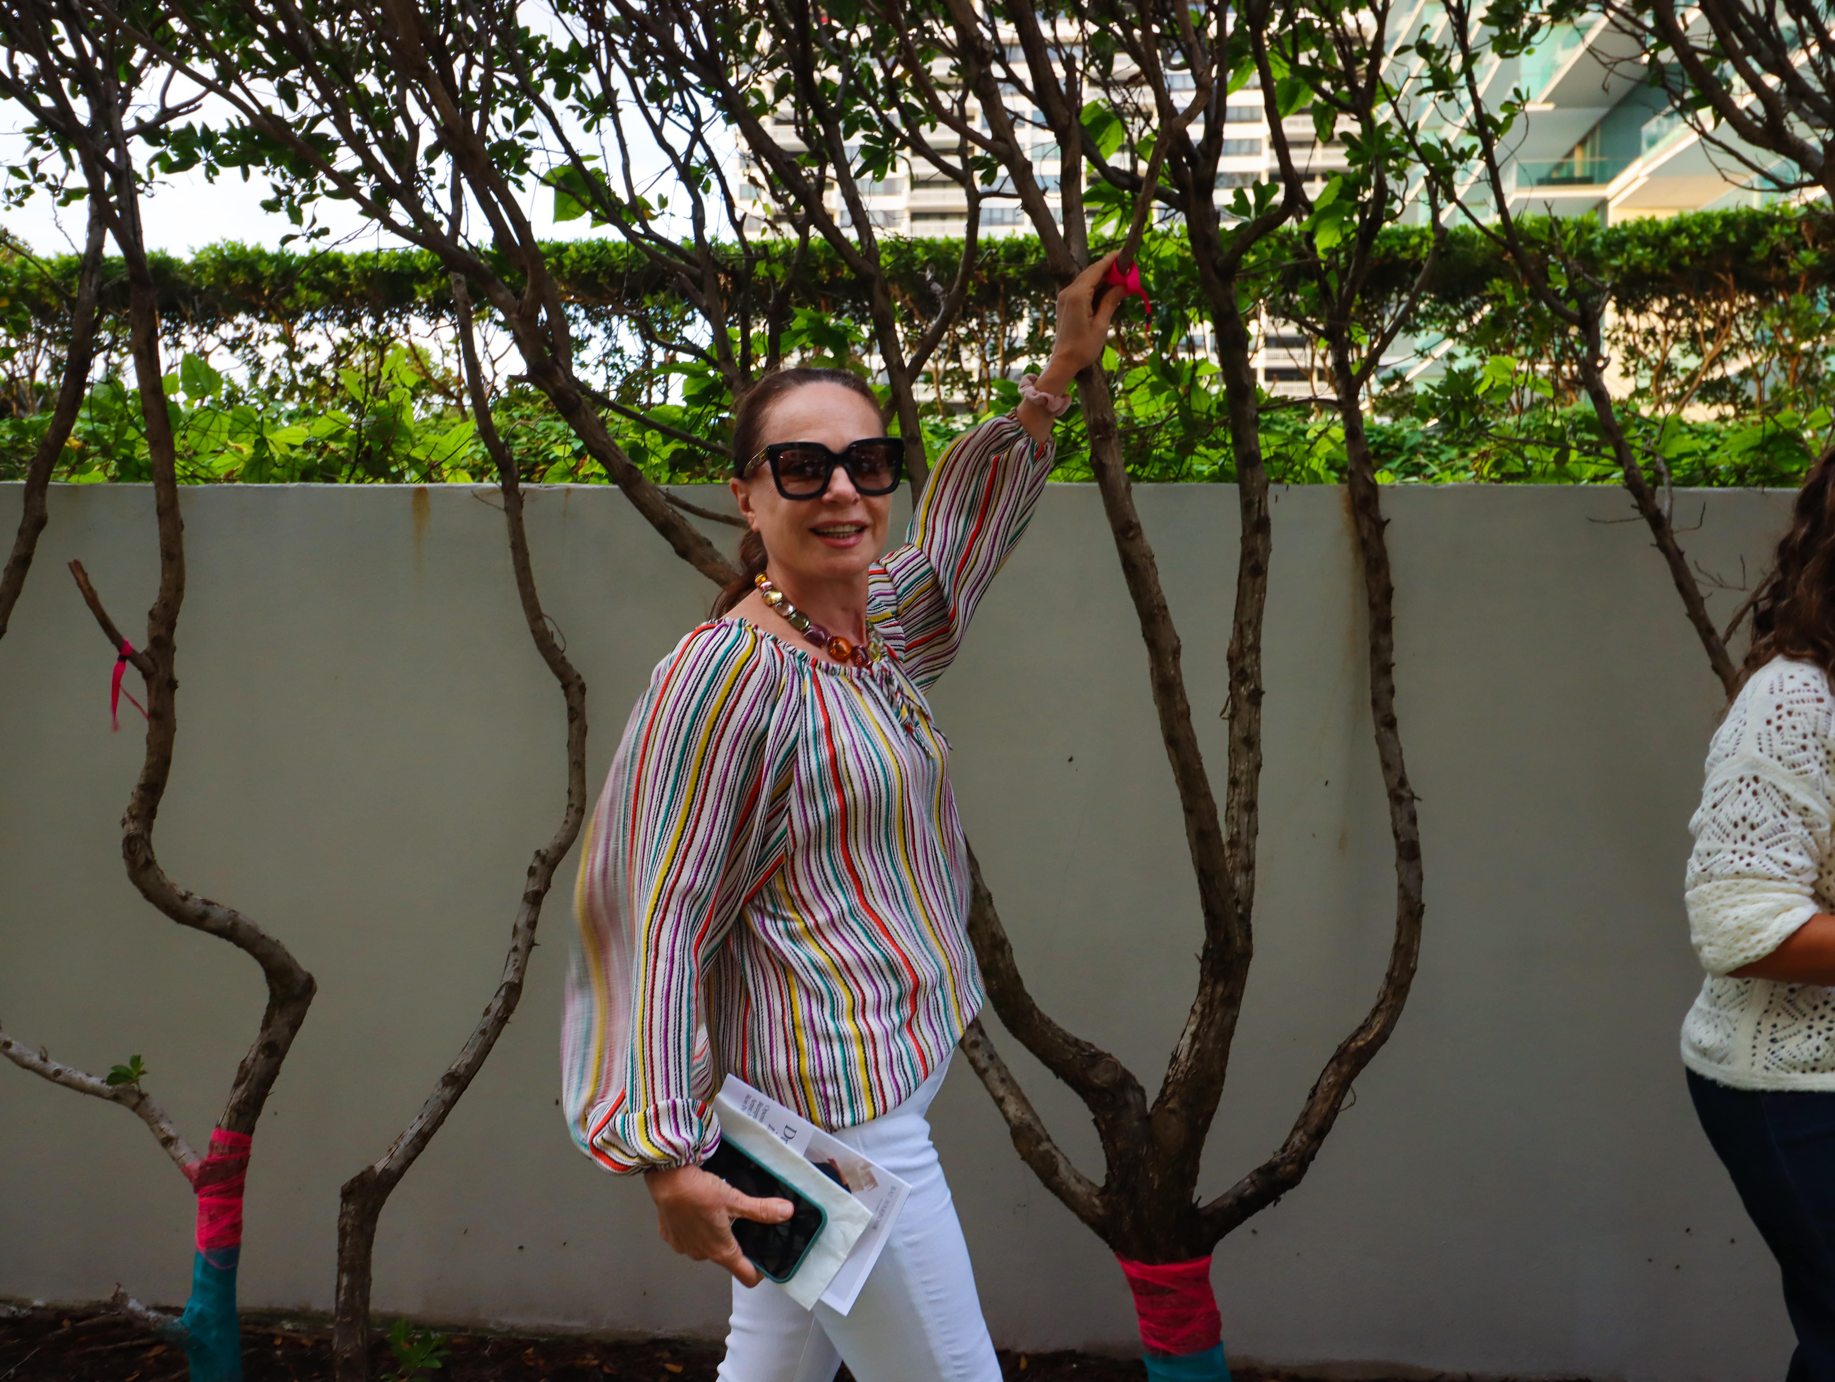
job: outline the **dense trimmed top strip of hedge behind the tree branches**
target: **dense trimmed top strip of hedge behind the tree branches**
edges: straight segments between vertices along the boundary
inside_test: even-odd
[[[1778,294],[1826,290],[1835,281],[1835,218],[1784,206],[1740,211],[1699,211],[1664,220],[1629,220],[1611,228],[1573,222],[1582,237],[1580,262],[1611,284],[1626,310],[1674,297],[1725,292]],[[1264,259],[1292,259],[1294,231],[1268,242]],[[1428,251],[1426,228],[1398,226],[1384,233],[1371,277],[1373,303],[1398,301],[1413,284]],[[556,281],[587,312],[628,314],[675,299],[673,283],[624,240],[552,240],[543,246]],[[954,275],[958,240],[886,239],[883,259],[894,292],[908,299],[932,297]],[[738,253],[725,250],[728,264]],[[1156,237],[1141,259],[1151,264],[1154,301],[1173,310],[1202,308],[1196,273],[1185,242]],[[174,319],[215,325],[237,318],[266,323],[365,321],[413,314],[444,314],[450,306],[446,273],[422,250],[323,250],[297,253],[246,244],[215,244],[191,259],[154,255],[161,310]],[[789,264],[789,246],[769,246],[762,275],[774,281]],[[503,272],[501,264],[494,264]],[[0,301],[24,308],[35,323],[51,325],[64,314],[64,294],[75,284],[77,255],[31,259],[0,248]],[[506,275],[514,281],[514,275]],[[1464,310],[1483,301],[1492,284],[1508,277],[1497,248],[1472,228],[1448,231],[1448,246],[1428,297],[1442,308]],[[106,272],[105,305],[125,310],[119,261]],[[53,288],[51,284],[57,284]],[[62,292],[59,292],[62,290]],[[965,314],[974,318],[1000,305],[1050,305],[1057,284],[1042,268],[1039,242],[1029,235],[984,239]],[[855,316],[866,297],[835,251],[822,242],[807,250],[796,275],[795,301],[824,312]]]

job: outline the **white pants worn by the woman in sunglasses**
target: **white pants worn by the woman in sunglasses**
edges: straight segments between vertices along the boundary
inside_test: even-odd
[[[857,1382],[1000,1382],[969,1244],[930,1145],[927,1114],[947,1070],[949,1061],[892,1112],[835,1132],[912,1187],[853,1309],[806,1310],[774,1281],[751,1290],[734,1281],[719,1382],[833,1382],[842,1362]]]

